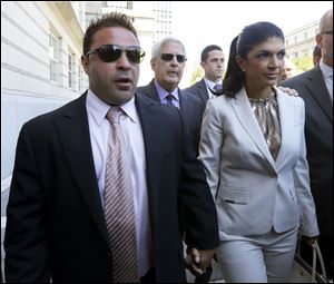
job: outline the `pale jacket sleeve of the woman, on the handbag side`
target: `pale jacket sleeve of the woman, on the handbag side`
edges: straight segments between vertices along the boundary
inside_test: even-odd
[[[302,100],[301,100],[302,101]],[[301,110],[303,126],[305,124],[305,109],[302,101]],[[299,232],[305,236],[317,236],[320,234],[315,214],[315,205],[310,188],[308,164],[306,159],[306,144],[304,136],[304,127],[301,127],[302,145],[301,153],[294,168],[294,183],[299,205],[301,227]]]

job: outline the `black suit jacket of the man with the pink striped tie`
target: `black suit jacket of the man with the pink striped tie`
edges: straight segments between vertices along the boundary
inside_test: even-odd
[[[95,174],[86,95],[23,125],[7,208],[8,282],[112,282],[112,254]],[[136,96],[147,163],[156,282],[185,282],[187,239],[218,245],[216,209],[178,111]]]

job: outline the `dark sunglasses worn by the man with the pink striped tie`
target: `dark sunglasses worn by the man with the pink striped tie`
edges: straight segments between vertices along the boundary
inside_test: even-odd
[[[121,47],[117,45],[105,45],[88,51],[86,56],[98,53],[104,62],[115,62],[120,58],[122,51],[126,51],[126,56],[131,63],[140,63],[144,60],[145,51],[136,46]]]

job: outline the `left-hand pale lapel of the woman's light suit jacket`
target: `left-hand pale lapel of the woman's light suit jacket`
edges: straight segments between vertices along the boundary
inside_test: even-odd
[[[265,141],[263,133],[258,126],[258,123],[253,114],[250,102],[247,98],[246,91],[243,88],[236,94],[236,99],[233,100],[232,107],[245,131],[249,135],[258,150],[263,154],[272,168],[275,169],[275,161]]]

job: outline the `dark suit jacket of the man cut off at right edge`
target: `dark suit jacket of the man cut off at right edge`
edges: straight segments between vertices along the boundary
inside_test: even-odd
[[[322,236],[333,237],[333,104],[320,67],[286,80],[305,101],[311,188]]]

